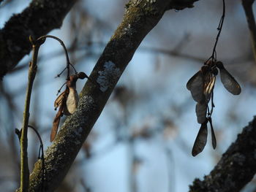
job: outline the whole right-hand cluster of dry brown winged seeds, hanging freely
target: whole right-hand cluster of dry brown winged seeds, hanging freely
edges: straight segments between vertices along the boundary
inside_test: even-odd
[[[204,64],[200,71],[194,74],[187,82],[187,89],[191,92],[192,98],[197,102],[195,113],[197,115],[197,123],[200,123],[200,130],[195,139],[192,148],[192,155],[195,156],[203,151],[207,142],[207,123],[211,125],[211,139],[212,145],[215,149],[216,138],[214,128],[212,126],[211,114],[214,108],[214,84],[218,74],[224,87],[233,95],[241,93],[241,87],[235,78],[227,72],[221,61],[209,60]],[[209,110],[208,103],[211,101],[211,110]]]

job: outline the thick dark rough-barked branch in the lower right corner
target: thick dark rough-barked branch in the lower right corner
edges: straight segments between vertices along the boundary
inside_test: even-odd
[[[190,191],[238,192],[256,173],[256,117],[238,134],[217,166],[203,180],[196,179]]]

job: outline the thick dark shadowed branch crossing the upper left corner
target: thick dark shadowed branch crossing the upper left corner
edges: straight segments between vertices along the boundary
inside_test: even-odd
[[[0,79],[31,51],[29,35],[40,37],[60,28],[76,0],[34,0],[0,31]]]

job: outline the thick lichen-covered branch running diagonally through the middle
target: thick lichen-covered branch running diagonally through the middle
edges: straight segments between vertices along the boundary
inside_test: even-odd
[[[157,25],[170,0],[132,0],[121,24],[111,37],[80,93],[78,109],[70,115],[45,153],[45,191],[54,191],[64,179],[91,128],[103,110],[110,93],[143,38]],[[37,161],[30,175],[29,191],[39,191],[42,166]]]

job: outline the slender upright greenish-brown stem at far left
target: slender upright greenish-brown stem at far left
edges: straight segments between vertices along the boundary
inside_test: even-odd
[[[31,41],[32,42],[32,41]],[[33,57],[29,63],[29,82],[26,89],[25,108],[23,112],[23,124],[20,137],[20,189],[22,192],[29,191],[29,164],[28,164],[28,125],[29,125],[29,106],[31,99],[34,77],[37,73],[37,55],[40,44],[33,43]]]

